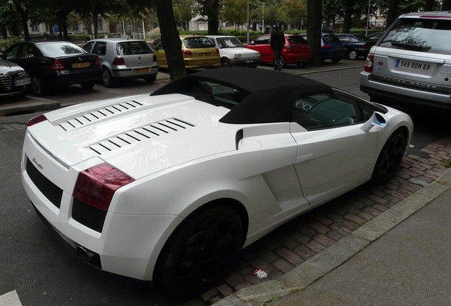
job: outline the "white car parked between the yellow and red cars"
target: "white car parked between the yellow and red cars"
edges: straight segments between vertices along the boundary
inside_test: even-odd
[[[219,49],[221,65],[223,67],[257,67],[257,65],[262,62],[259,52],[247,49],[245,45],[234,36],[207,35],[207,37],[213,40],[216,47]]]

